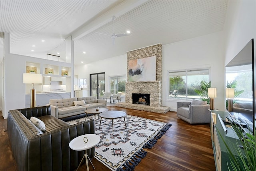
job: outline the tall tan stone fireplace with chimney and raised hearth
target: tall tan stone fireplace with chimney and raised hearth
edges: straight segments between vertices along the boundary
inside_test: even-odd
[[[156,81],[148,82],[130,82],[129,76],[129,61],[156,56]],[[134,103],[132,94],[148,94],[148,103]],[[140,98],[140,97],[139,97]],[[162,106],[162,44],[156,44],[146,48],[127,52],[127,82],[125,85],[125,102],[116,103],[117,106],[130,109],[138,109],[144,111],[153,111],[157,113],[166,113],[170,107]]]

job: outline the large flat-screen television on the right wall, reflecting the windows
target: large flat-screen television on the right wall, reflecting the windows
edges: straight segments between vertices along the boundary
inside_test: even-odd
[[[226,87],[228,84],[236,84],[234,108],[230,114],[235,115],[238,121],[248,125],[248,129],[253,134],[256,132],[256,61],[254,58],[254,40],[251,39],[226,66]],[[242,93],[236,93],[238,91]]]

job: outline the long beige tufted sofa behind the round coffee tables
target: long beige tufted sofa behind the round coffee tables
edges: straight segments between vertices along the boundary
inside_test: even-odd
[[[75,105],[74,101],[84,100],[84,105]],[[52,115],[57,118],[68,117],[84,113],[86,109],[94,107],[107,107],[107,101],[97,99],[96,96],[72,97],[66,99],[50,99]]]

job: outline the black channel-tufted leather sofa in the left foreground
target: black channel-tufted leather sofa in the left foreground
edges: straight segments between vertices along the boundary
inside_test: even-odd
[[[44,121],[42,132],[30,117]],[[78,167],[84,151],[70,149],[69,142],[80,135],[95,133],[94,120],[69,125],[51,115],[50,105],[8,112],[8,136],[19,171],[70,171]],[[87,150],[90,158],[95,148]]]

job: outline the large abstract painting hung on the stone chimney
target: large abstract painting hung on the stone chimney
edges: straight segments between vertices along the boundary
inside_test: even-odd
[[[156,81],[156,56],[129,61],[130,82]]]

